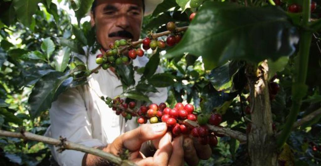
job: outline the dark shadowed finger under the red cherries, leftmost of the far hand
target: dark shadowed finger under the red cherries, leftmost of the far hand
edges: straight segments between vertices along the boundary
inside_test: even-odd
[[[185,138],[183,147],[184,147],[184,160],[187,162],[187,164],[189,166],[197,165],[199,162],[199,158],[197,157],[193,140],[191,138]]]

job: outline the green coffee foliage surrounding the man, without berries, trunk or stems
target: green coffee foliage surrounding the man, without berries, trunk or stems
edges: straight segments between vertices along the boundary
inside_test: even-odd
[[[0,127],[43,135],[50,125],[48,109],[68,88],[86,84],[90,72],[82,56],[100,48],[95,29],[81,23],[92,0],[68,1],[78,24],[51,0],[0,0]],[[146,51],[149,62],[142,68],[117,65],[127,102],[150,104],[148,93],[167,87],[167,105],[192,103],[197,113],[222,115],[223,127],[247,133],[245,113],[249,105],[247,64],[269,65],[269,79],[276,74],[280,86],[271,101],[274,132],[283,129],[292,102],[292,78],[298,70],[300,13],[287,12],[287,0],[278,6],[268,1],[212,1],[191,8],[189,0],[164,0],[145,16],[141,38],[166,31],[169,21],[189,26],[176,46]],[[316,1],[321,4],[321,1]],[[302,5],[302,3],[301,3]],[[311,17],[319,17],[320,8]],[[190,21],[191,13],[196,12]],[[166,39],[166,36],[159,39]],[[315,32],[310,48],[307,95],[298,119],[320,108],[321,50]],[[89,50],[89,51],[88,51]],[[139,58],[139,57],[138,57]],[[98,66],[98,65],[97,65]],[[164,73],[155,74],[157,66]],[[102,69],[101,69],[102,70]],[[134,72],[141,75],[134,81]],[[95,73],[92,73],[95,74]],[[300,89],[294,89],[299,91]],[[321,115],[291,132],[280,149],[279,161],[287,165],[321,163]],[[248,165],[247,146],[230,137],[220,137],[212,157],[199,165]],[[50,165],[48,145],[17,138],[0,137],[0,165]]]

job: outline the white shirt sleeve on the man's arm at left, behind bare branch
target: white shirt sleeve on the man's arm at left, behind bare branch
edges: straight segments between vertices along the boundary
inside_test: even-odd
[[[50,114],[50,136],[59,139],[60,136],[68,141],[89,147],[103,144],[92,138],[91,123],[86,111],[85,101],[80,90],[70,88],[58,96],[52,103]],[[51,147],[51,152],[60,166],[82,165],[83,152],[65,150],[57,152],[57,147]]]

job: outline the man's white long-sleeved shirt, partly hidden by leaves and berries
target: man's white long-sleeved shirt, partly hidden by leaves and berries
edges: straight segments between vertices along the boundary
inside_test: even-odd
[[[98,54],[99,50],[96,54],[89,55],[89,70],[98,66]],[[143,67],[147,62],[147,57],[137,57],[133,65]],[[156,72],[162,72],[160,67]],[[141,75],[134,73],[136,84],[140,77]],[[100,96],[114,98],[123,92],[121,81],[112,71],[100,69],[98,74],[88,77],[88,84],[67,89],[52,103],[49,110],[51,126],[45,136],[56,139],[62,136],[68,141],[94,147],[107,145],[122,133],[138,127],[135,117],[125,122],[122,116],[116,115],[115,111],[100,99]],[[167,89],[157,90],[158,93],[148,95],[149,99],[156,104],[165,102]],[[60,166],[81,166],[84,153],[74,150],[58,153],[56,150],[56,147],[51,146],[51,153]]]

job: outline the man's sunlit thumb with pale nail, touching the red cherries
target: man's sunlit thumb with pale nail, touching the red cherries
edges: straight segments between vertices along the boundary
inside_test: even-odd
[[[130,151],[139,150],[143,142],[160,138],[167,131],[166,123],[144,124],[126,132],[122,137],[122,144]]]

